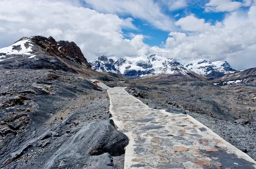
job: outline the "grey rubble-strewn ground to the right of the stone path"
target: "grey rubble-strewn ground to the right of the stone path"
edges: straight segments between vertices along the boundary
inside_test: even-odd
[[[239,88],[240,92],[198,81],[166,86],[134,83],[126,90],[151,108],[191,115],[256,160],[256,86]]]

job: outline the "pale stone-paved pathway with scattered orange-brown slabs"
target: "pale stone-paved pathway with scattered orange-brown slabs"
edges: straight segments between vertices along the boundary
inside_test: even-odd
[[[256,161],[193,117],[151,109],[125,87],[108,95],[112,119],[129,137],[125,169],[256,169]]]

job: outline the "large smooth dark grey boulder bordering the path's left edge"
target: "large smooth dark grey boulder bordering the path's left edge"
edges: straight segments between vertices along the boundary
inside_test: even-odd
[[[113,120],[108,118],[108,115],[105,115],[102,117],[102,121],[83,126],[55,152],[52,158],[47,161],[44,169],[58,168],[61,161],[64,161],[65,167],[70,168],[76,166],[79,160],[83,161],[90,155],[102,155],[105,153],[103,157],[106,158],[104,160],[106,161],[111,158],[110,155],[118,156],[124,154],[124,148],[128,144],[128,137],[117,131],[113,126]],[[70,157],[72,157],[71,160],[68,160]],[[110,163],[109,160],[108,163]],[[105,162],[99,164],[101,167],[108,165]]]

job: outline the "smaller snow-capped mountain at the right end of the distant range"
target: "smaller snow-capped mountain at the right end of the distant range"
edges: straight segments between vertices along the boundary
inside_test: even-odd
[[[201,59],[187,63],[185,67],[197,74],[210,77],[212,79],[222,77],[225,74],[236,72],[236,70],[231,68],[230,64],[227,63],[227,61],[210,62]]]

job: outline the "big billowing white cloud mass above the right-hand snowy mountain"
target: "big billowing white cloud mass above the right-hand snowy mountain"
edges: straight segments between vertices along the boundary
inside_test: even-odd
[[[184,21],[188,18],[197,26],[190,28],[189,21]],[[222,23],[214,25],[192,15],[181,18],[177,25],[185,32],[193,31],[171,32],[166,40],[165,48],[169,49],[166,55],[176,57],[181,63],[202,58],[227,60],[235,69],[256,66],[256,6],[251,6],[246,13],[234,11]]]

